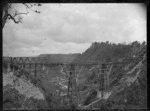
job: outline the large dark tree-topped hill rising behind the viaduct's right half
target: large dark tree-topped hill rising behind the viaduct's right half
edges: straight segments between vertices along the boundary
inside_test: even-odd
[[[140,50],[146,42],[139,43],[134,41],[130,44],[126,43],[109,43],[107,42],[94,42],[92,45],[78,56],[75,62],[93,62],[93,61],[119,61],[125,57],[134,56],[134,54]]]

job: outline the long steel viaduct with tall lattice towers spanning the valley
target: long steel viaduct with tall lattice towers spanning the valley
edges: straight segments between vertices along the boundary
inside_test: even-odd
[[[99,70],[99,90],[102,91],[102,96],[103,96],[103,91],[107,90],[108,88],[108,74],[110,73],[110,69],[108,69],[108,66],[122,66],[127,64],[128,62],[132,61],[137,61],[137,58],[130,58],[126,59],[124,62],[88,62],[88,63],[77,63],[77,62],[72,62],[72,63],[49,63],[47,60],[45,60],[43,57],[3,57],[3,63],[4,60],[6,60],[11,68],[16,68],[20,70],[24,70],[26,66],[28,66],[28,74],[31,72],[31,67],[34,66],[34,73],[35,73],[35,78],[37,77],[37,72],[39,69],[44,67],[54,67],[54,66],[60,66],[60,65],[67,65],[70,69],[69,71],[69,80],[68,80],[68,97],[70,102],[72,103],[74,100],[74,97],[77,96],[78,94],[78,88],[76,84],[76,75],[75,75],[75,66],[95,66],[99,65],[100,70]],[[38,68],[40,67],[40,68]],[[33,68],[32,68],[33,69]],[[109,72],[109,73],[108,73]]]

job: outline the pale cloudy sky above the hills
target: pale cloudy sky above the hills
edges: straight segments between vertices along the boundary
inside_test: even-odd
[[[13,6],[25,11],[22,4]],[[92,42],[146,41],[146,9],[139,3],[53,3],[36,9],[41,13],[22,15],[22,23],[7,21],[3,56],[83,53]]]

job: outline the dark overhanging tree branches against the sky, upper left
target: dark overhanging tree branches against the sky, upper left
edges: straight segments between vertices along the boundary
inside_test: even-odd
[[[30,11],[33,11],[35,13],[40,13],[40,11],[37,11],[35,9],[33,9],[33,7],[39,7],[41,6],[40,3],[32,3],[32,4],[27,4],[27,3],[21,3],[25,9],[26,9],[26,12],[20,12],[19,10],[15,10],[13,7],[12,7],[12,4],[13,3],[9,3],[7,0],[2,2],[2,28],[4,28],[7,20],[13,20],[16,24],[18,23],[21,23],[22,22],[22,17],[20,15],[22,14],[29,14],[29,10]]]

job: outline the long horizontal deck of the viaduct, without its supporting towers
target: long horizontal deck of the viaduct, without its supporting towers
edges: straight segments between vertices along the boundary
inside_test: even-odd
[[[98,62],[98,61],[93,61],[93,62],[48,62],[45,58],[43,57],[3,57],[3,62],[8,61],[11,63],[15,64],[37,64],[37,65],[111,65],[111,64],[126,64],[131,61],[138,60],[138,57],[135,58],[129,58],[129,59],[124,59],[124,61],[120,62]]]

